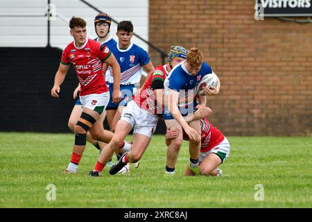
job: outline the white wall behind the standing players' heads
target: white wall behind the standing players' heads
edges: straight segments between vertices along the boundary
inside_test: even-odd
[[[130,20],[135,33],[144,40],[148,40],[148,0],[87,0],[96,8],[108,13],[117,22]],[[15,17],[12,15],[44,15],[46,13],[46,0],[0,0],[0,47],[44,47],[47,43],[46,17]],[[87,22],[87,33],[90,38],[96,37],[94,31],[94,17],[98,12],[89,8],[79,0],[51,0],[55,12],[65,19],[73,15],[83,17]],[[5,15],[10,15],[6,17]],[[116,38],[117,25],[112,22],[110,35]],[[51,20],[51,46],[64,47],[73,38],[69,35],[68,22],[60,17]],[[148,51],[148,45],[137,37],[132,42]]]

